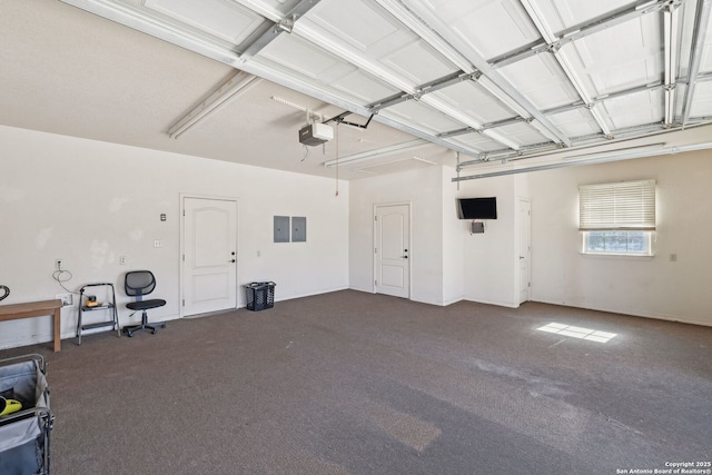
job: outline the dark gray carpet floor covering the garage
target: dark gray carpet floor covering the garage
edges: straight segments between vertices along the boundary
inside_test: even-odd
[[[541,331],[558,323],[607,343]],[[48,360],[52,473],[620,474],[712,461],[712,328],[345,290]],[[709,467],[708,467],[709,468]]]

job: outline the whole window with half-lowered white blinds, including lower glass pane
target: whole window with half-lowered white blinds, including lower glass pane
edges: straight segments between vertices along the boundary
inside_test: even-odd
[[[578,199],[585,254],[652,255],[655,180],[584,185]]]

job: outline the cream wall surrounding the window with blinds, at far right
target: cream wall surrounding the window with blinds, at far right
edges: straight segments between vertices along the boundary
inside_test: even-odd
[[[532,174],[532,299],[712,325],[711,159],[699,151]],[[657,180],[655,257],[580,254],[578,185],[643,178]]]

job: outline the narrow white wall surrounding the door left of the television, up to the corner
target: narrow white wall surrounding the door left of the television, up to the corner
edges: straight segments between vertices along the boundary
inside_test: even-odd
[[[443,171],[426,167],[350,182],[349,285],[374,291],[374,206],[411,204],[411,299],[443,305]]]

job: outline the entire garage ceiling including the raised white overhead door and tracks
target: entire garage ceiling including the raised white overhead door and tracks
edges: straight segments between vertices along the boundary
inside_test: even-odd
[[[6,1],[0,123],[344,179],[685,146],[711,3]],[[335,138],[300,145],[312,122]]]

